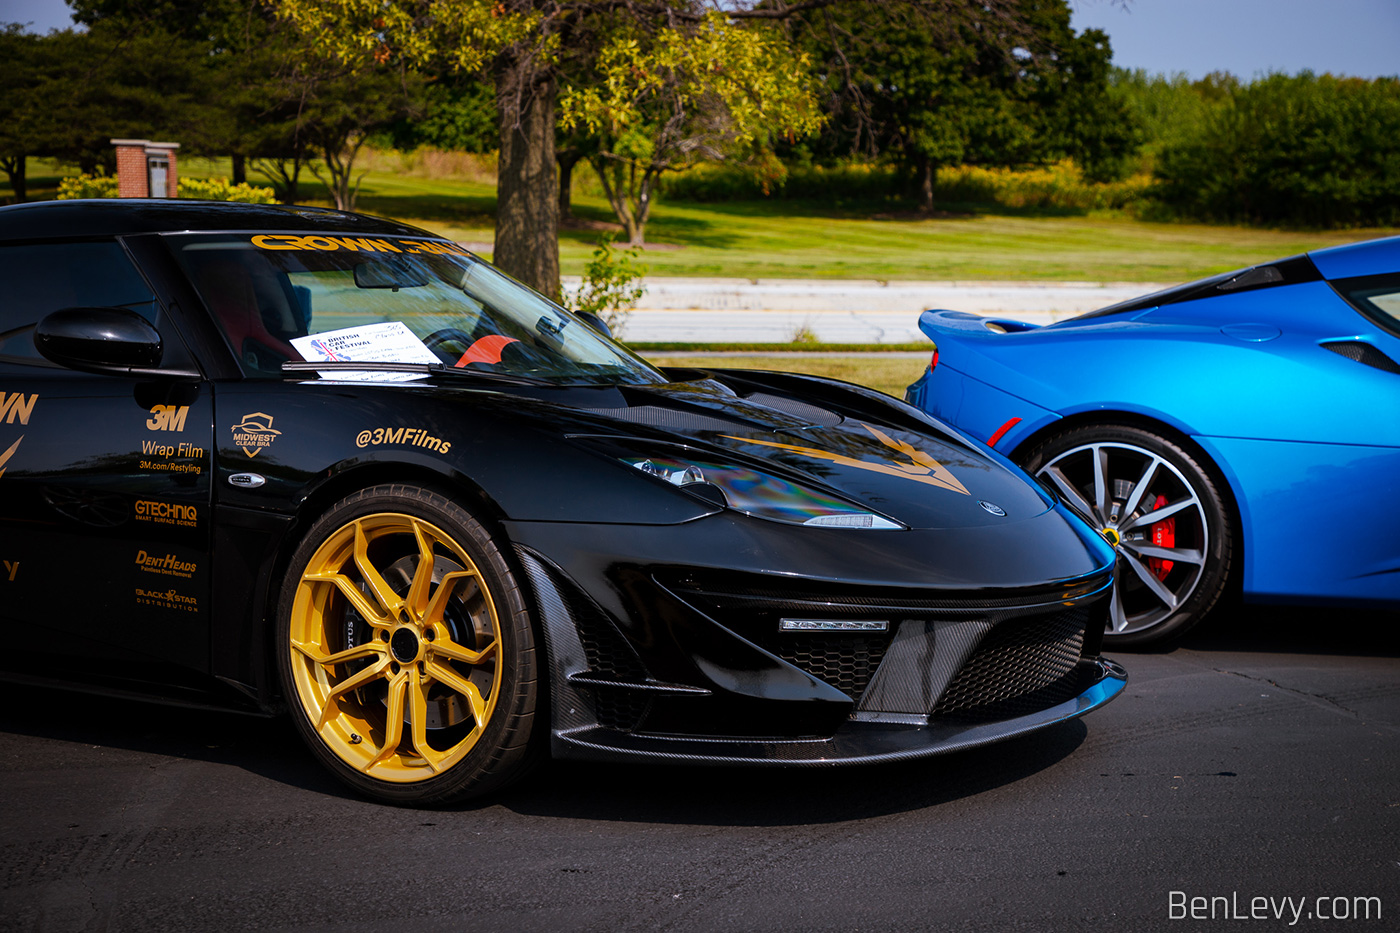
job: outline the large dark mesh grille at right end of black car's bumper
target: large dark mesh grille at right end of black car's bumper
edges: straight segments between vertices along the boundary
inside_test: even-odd
[[[1009,719],[1070,699],[1078,692],[1088,618],[1075,607],[998,625],[944,691],[934,716]]]

